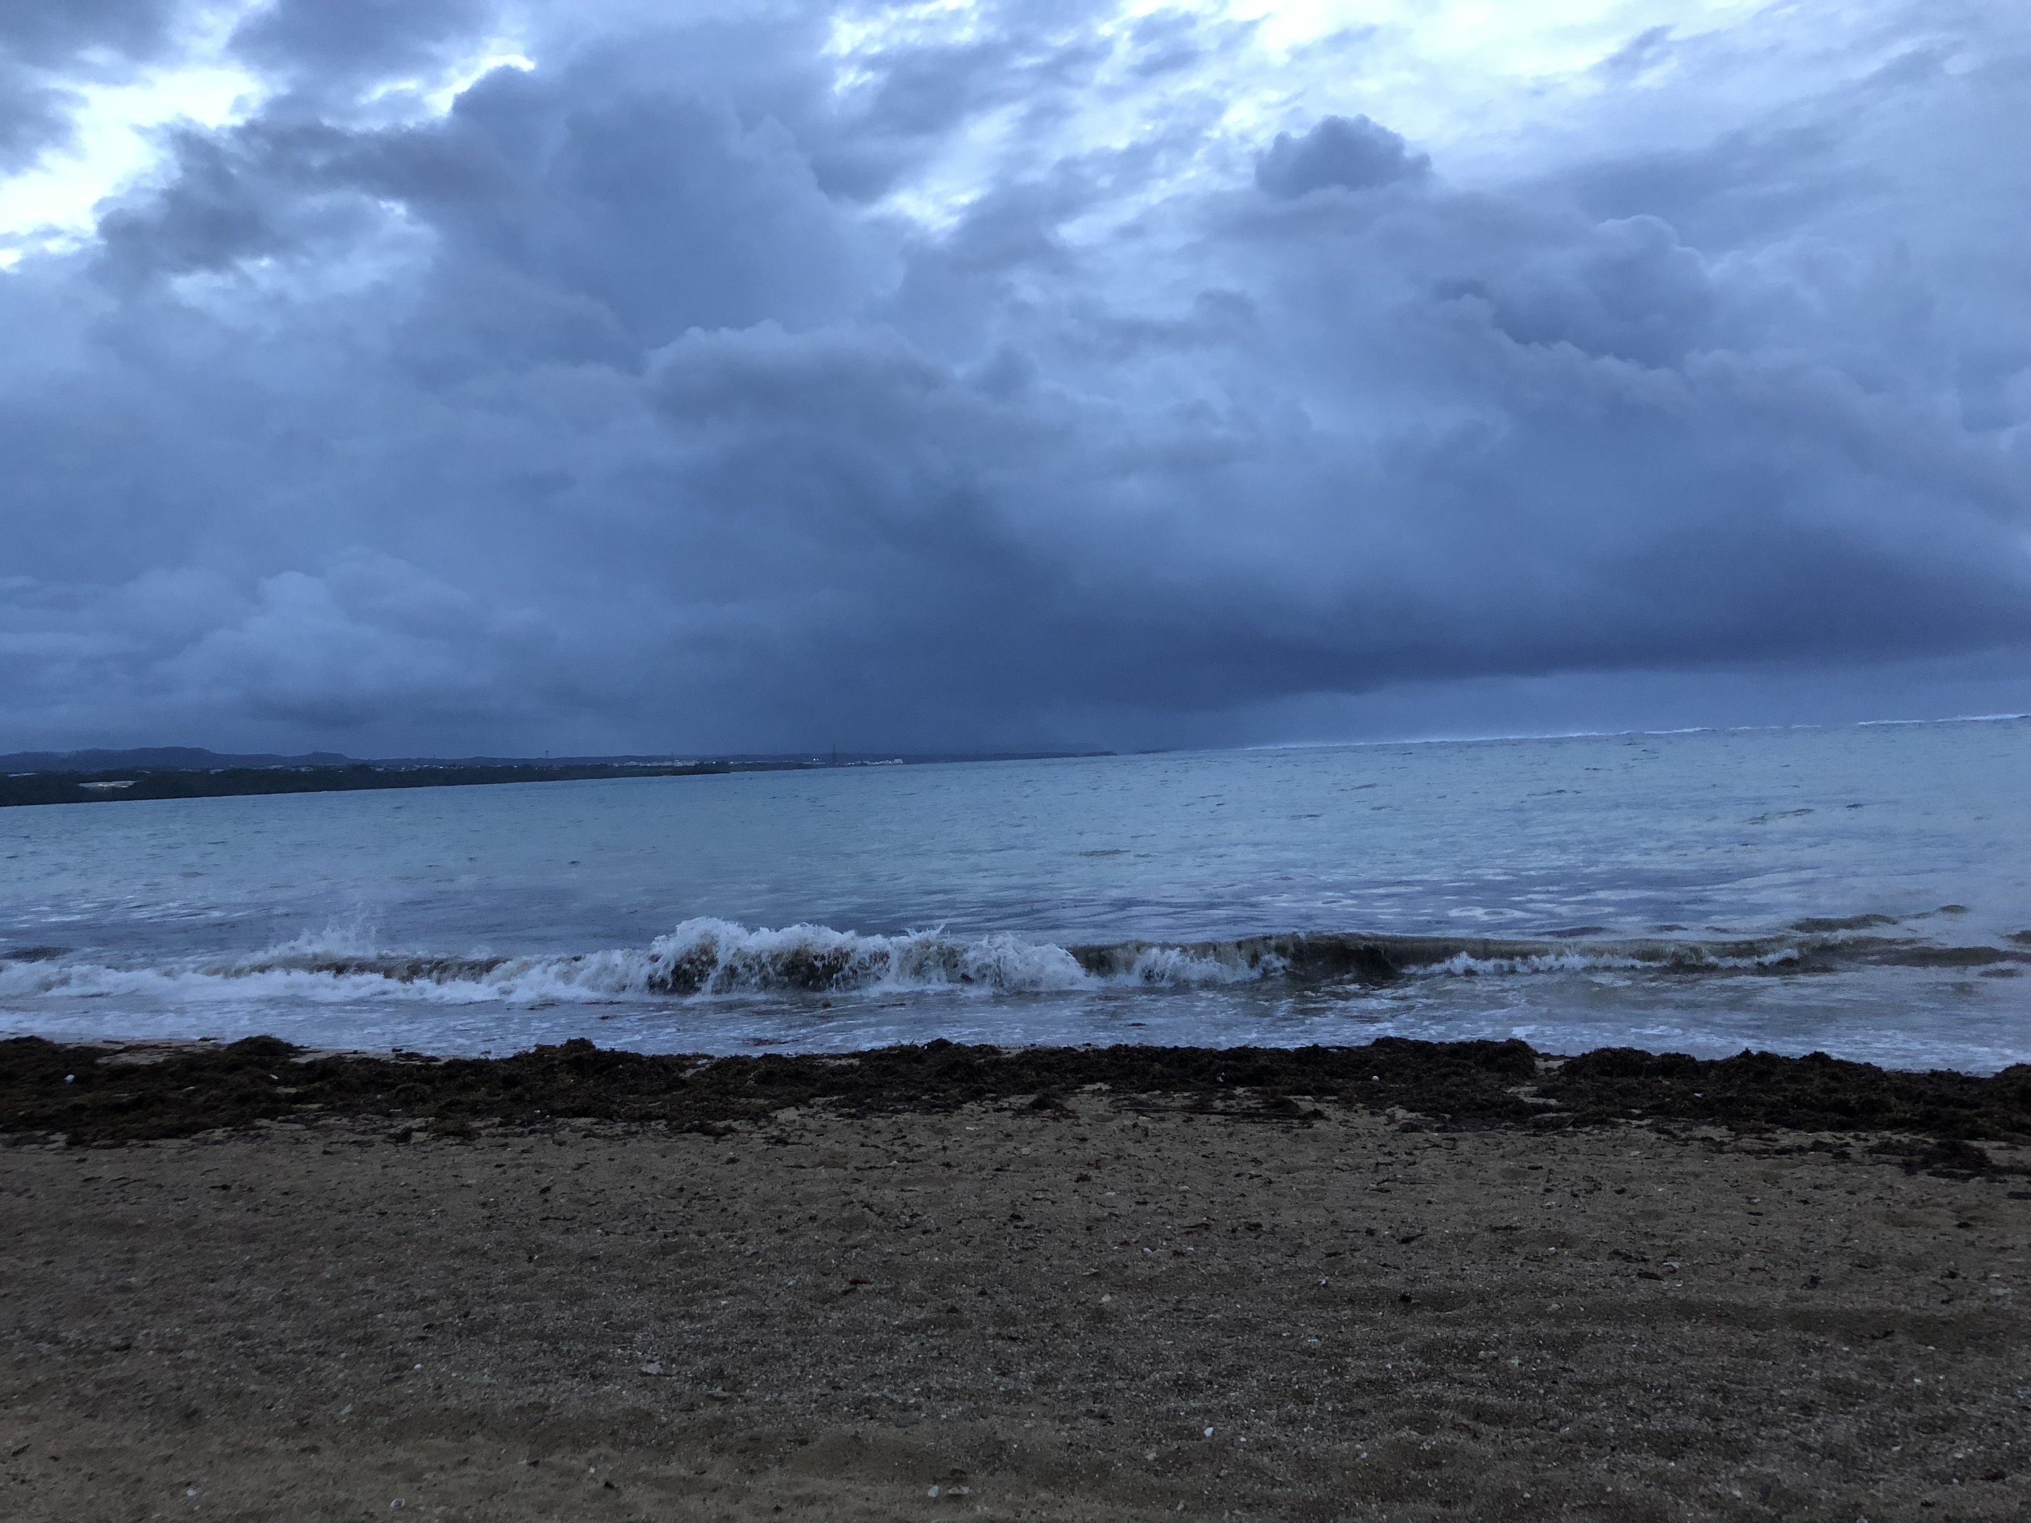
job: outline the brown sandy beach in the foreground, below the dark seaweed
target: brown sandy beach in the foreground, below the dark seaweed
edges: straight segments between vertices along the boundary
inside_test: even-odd
[[[0,1515],[2023,1519],[2027,1178],[1866,1147],[1097,1095],[4,1147]]]

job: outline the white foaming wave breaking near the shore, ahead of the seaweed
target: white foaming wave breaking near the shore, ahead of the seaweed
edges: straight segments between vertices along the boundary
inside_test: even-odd
[[[1877,920],[1877,918],[1869,918]],[[1834,922],[1854,924],[1854,922]],[[148,997],[431,999],[441,1003],[563,1003],[628,997],[851,995],[957,989],[1052,993],[1202,989],[1288,981],[1377,985],[1574,973],[1785,975],[1852,967],[1986,967],[2031,963],[2031,950],[1940,946],[1871,934],[1745,940],[1505,940],[1292,932],[1206,942],[1058,946],[1009,934],[955,938],[942,930],[867,936],[831,926],[749,928],[686,920],[646,948],[550,956],[386,952],[357,932],[303,936],[256,956],[173,967],[69,961],[63,948],[0,954],[0,999]]]

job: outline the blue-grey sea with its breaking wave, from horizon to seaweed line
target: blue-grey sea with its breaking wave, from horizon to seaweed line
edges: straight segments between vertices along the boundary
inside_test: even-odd
[[[0,1032],[2031,1060],[2031,719],[0,810]]]

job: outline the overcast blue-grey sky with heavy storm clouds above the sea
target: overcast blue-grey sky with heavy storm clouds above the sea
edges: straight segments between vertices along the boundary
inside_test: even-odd
[[[0,749],[2031,709],[2031,10],[0,0]]]

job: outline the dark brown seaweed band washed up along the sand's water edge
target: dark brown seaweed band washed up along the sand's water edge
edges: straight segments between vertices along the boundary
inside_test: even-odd
[[[561,1119],[717,1127],[792,1105],[1054,1109],[1076,1090],[1233,1117],[1302,1121],[1318,1105],[1395,1111],[1436,1129],[1716,1123],[1739,1131],[1877,1131],[2031,1141],[2031,1064],[1980,1078],[1897,1072],[1826,1054],[1698,1060],[1633,1048],[1548,1058],[1523,1042],[1351,1048],[989,1048],[930,1042],[851,1056],[640,1054],[575,1040],[512,1058],[311,1054],[278,1038],[217,1048],[0,1042],[0,1133],[73,1143],[179,1137],[319,1117],[540,1127]],[[1978,1149],[1962,1147],[1968,1166]]]

